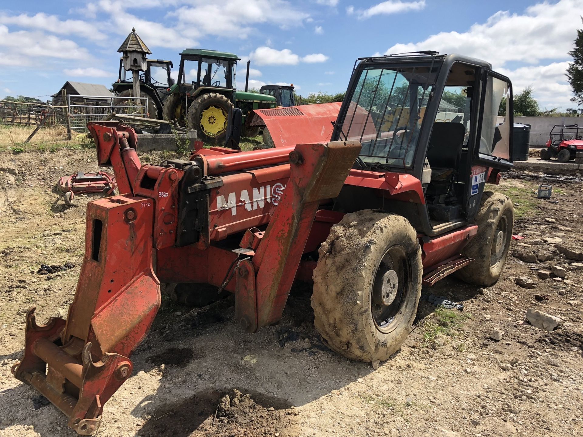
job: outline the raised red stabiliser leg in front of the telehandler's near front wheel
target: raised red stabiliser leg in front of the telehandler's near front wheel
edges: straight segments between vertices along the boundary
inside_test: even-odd
[[[297,145],[289,154],[282,199],[266,231],[255,232],[254,255],[237,269],[236,316],[247,332],[281,319],[319,202],[338,196],[360,148],[357,141],[337,141]]]

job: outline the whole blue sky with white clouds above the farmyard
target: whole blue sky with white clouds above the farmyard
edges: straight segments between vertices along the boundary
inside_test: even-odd
[[[47,96],[66,80],[111,84],[132,26],[178,66],[183,48],[251,59],[251,85],[346,88],[354,59],[412,50],[491,62],[544,108],[573,107],[564,77],[583,0],[94,0],[2,2],[0,96]],[[244,86],[244,64],[238,83]],[[44,98],[44,97],[41,97]]]

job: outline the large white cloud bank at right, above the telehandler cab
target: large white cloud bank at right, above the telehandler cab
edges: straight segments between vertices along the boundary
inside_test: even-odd
[[[529,6],[524,13],[499,11],[468,31],[441,32],[418,43],[395,44],[385,54],[438,50],[484,59],[514,81],[515,92],[532,85],[542,107],[567,108],[573,103],[563,61],[570,59],[567,52],[581,27],[579,14],[573,13],[580,9],[580,0],[560,0]],[[510,62],[527,66],[509,68]]]

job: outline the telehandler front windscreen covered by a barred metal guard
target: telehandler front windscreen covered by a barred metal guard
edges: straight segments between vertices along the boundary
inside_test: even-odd
[[[420,65],[356,71],[359,80],[337,126],[340,139],[359,140],[360,158],[369,167],[410,167],[437,70]]]

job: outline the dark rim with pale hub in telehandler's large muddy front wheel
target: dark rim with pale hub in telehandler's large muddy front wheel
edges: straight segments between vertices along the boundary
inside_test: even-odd
[[[410,294],[411,265],[403,246],[391,246],[381,258],[371,288],[371,315],[378,330],[399,325]]]

